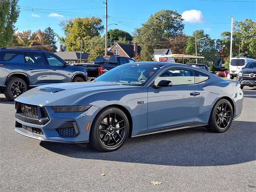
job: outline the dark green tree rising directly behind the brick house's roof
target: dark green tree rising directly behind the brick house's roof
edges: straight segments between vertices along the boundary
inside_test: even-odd
[[[113,29],[108,31],[108,41],[112,42],[131,42],[132,41],[132,36],[123,30],[119,29]]]

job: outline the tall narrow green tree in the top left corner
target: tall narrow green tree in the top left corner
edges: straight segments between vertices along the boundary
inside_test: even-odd
[[[20,13],[18,0],[0,1],[0,47],[7,46],[14,35],[14,23]]]

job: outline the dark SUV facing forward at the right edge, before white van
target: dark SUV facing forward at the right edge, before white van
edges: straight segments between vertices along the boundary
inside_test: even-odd
[[[236,80],[240,82],[241,89],[244,86],[256,86],[256,60],[248,62],[245,68],[238,73]]]

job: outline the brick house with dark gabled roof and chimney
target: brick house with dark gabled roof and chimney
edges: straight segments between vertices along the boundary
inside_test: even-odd
[[[136,42],[134,42],[134,44],[115,43],[110,48],[108,48],[110,55],[130,58],[134,58],[137,53],[140,54],[140,50],[141,47],[138,46]]]

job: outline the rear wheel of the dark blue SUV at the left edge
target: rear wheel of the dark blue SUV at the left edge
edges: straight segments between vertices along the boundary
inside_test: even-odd
[[[15,98],[20,96],[22,93],[28,90],[26,82],[21,78],[10,78],[6,83],[6,88],[4,90],[4,96],[10,100],[14,101]]]

